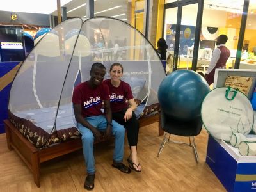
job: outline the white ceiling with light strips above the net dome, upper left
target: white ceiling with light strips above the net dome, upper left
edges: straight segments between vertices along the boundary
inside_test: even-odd
[[[86,0],[60,0],[61,6],[67,8],[67,12],[81,4],[86,3]],[[114,10],[109,10],[96,14],[95,16],[114,16],[125,14],[122,16],[115,17],[116,19],[127,19],[127,1],[129,0],[94,0],[94,12],[100,12],[115,6],[120,6]],[[52,14],[57,15],[57,0],[11,0],[4,1],[1,3],[0,11],[8,12],[26,12],[26,13],[41,13],[41,14]],[[67,17],[83,17],[86,15],[86,6],[82,6],[74,10],[73,12],[67,13]]]

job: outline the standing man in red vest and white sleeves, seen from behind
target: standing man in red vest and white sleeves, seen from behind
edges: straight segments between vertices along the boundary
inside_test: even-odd
[[[210,65],[205,72],[205,79],[209,85],[211,85],[214,81],[214,74],[216,68],[226,68],[226,63],[230,56],[230,51],[225,45],[227,40],[227,35],[220,35],[217,38],[217,47],[212,52],[212,59]]]

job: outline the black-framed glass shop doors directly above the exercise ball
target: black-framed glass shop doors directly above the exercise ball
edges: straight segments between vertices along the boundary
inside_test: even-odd
[[[164,38],[168,45],[166,70],[196,69],[200,38],[198,5],[200,1],[176,1],[164,4]],[[201,17],[202,18],[202,17]],[[168,72],[168,71],[167,71]]]

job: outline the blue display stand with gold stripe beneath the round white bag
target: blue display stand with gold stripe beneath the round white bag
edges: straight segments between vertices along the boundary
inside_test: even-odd
[[[237,148],[209,135],[206,163],[227,191],[256,191],[256,156],[241,156]]]

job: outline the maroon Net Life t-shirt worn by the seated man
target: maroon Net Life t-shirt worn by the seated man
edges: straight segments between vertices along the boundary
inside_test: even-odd
[[[101,111],[103,100],[109,100],[109,89],[106,84],[90,88],[86,81],[74,88],[72,102],[81,104],[83,117],[103,115]]]

